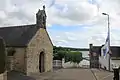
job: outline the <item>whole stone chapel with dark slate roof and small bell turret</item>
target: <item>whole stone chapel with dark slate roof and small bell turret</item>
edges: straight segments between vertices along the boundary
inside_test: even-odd
[[[53,44],[46,30],[45,6],[36,14],[36,24],[0,28],[5,40],[7,71],[30,73],[52,70]]]

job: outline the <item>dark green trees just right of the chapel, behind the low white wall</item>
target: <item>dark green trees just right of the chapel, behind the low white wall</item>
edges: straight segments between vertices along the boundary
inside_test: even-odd
[[[80,63],[83,60],[82,53],[76,48],[53,47],[53,59],[62,60],[65,62]]]

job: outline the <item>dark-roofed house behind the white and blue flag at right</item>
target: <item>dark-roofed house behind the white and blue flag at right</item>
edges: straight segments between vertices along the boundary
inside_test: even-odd
[[[102,46],[93,46],[90,44],[90,67],[99,68],[99,57],[101,57],[101,48]],[[119,46],[110,46],[111,54],[111,65],[117,64],[120,65],[120,47]],[[105,61],[102,61],[105,63]],[[105,63],[107,64],[107,63]],[[101,65],[102,66],[102,65]]]

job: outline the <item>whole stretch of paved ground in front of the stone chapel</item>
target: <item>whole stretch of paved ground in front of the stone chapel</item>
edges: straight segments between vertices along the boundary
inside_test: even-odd
[[[53,72],[36,73],[30,77],[11,71],[8,80],[113,80],[113,73],[98,69],[58,69]]]

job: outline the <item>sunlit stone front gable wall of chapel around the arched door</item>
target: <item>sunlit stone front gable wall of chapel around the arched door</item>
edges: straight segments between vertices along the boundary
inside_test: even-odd
[[[36,35],[28,44],[26,49],[27,75],[39,72],[39,55],[44,52],[45,72],[52,70],[53,45],[50,42],[47,31],[43,28],[37,31]]]

